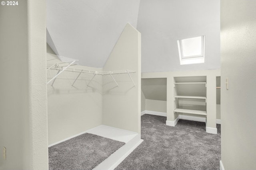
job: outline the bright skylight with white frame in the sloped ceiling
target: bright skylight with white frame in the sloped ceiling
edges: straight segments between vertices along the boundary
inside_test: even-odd
[[[204,35],[178,40],[180,64],[204,63]]]

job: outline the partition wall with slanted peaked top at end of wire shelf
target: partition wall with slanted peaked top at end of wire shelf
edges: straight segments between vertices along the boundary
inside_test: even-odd
[[[103,78],[103,125],[140,133],[141,112],[141,35],[129,23],[124,27],[103,70],[134,70],[128,74],[113,74]]]

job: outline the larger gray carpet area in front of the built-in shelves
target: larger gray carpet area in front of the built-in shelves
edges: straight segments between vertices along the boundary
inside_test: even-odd
[[[219,170],[218,134],[206,133],[205,123],[179,120],[166,126],[166,117],[143,115],[144,141],[115,170]]]

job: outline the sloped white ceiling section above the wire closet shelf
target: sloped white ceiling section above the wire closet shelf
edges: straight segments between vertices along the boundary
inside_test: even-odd
[[[47,0],[47,43],[60,56],[102,68],[126,23],[137,27],[140,0]]]

